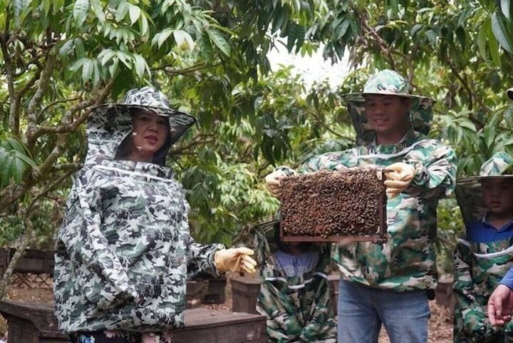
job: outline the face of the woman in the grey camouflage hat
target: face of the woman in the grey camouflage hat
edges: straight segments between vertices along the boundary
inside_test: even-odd
[[[130,160],[152,162],[168,134],[167,118],[138,110],[132,117],[133,133]]]

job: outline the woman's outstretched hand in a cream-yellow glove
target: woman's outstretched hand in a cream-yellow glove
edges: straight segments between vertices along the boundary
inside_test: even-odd
[[[248,272],[253,274],[257,261],[249,255],[254,251],[247,247],[217,250],[214,254],[214,264],[219,272]]]

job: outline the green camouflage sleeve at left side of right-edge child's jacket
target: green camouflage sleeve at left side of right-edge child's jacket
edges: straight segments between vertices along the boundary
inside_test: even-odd
[[[480,304],[476,301],[472,279],[472,251],[465,240],[459,239],[454,264],[455,329],[467,337],[479,337],[492,331]]]

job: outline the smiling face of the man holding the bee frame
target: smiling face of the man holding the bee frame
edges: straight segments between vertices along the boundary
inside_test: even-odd
[[[405,135],[410,120],[410,99],[401,96],[368,94],[365,98],[365,109],[368,123],[376,131],[378,137]]]

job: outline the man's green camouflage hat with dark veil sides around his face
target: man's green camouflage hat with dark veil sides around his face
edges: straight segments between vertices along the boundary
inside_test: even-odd
[[[432,105],[435,101],[425,96],[415,96],[411,93],[411,84],[396,71],[385,69],[368,78],[363,92],[347,93],[343,95],[348,103],[348,111],[356,129],[356,139],[359,145],[370,143],[375,135],[374,129],[368,123],[365,113],[366,94],[381,94],[389,96],[402,96],[411,99],[410,122],[413,130],[427,134],[432,120]]]

